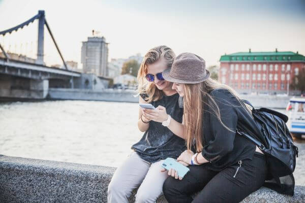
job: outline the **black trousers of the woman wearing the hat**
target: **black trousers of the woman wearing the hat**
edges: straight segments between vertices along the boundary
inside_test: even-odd
[[[166,179],[163,185],[165,198],[169,203],[240,202],[263,185],[267,163],[264,155],[258,152],[252,160],[244,159],[239,163],[241,166],[236,163],[221,172],[208,170],[204,164],[188,166],[190,171],[184,179]],[[193,199],[192,194],[196,192],[199,193]]]

